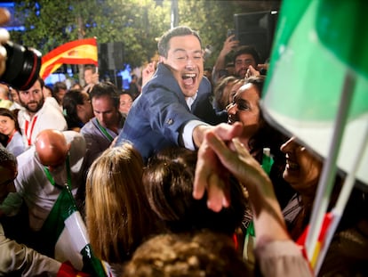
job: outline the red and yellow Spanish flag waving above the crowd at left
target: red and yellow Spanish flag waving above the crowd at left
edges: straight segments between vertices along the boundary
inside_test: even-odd
[[[71,41],[46,53],[42,58],[40,77],[45,79],[63,63],[98,65],[96,38]]]

